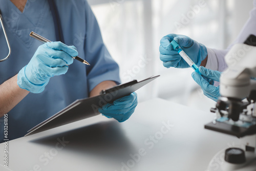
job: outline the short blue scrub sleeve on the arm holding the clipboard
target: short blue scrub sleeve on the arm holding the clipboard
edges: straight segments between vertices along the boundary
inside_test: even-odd
[[[106,49],[97,20],[86,1],[86,39],[84,53],[91,66],[87,66],[88,89],[91,92],[100,82],[111,80],[119,84],[119,67]]]

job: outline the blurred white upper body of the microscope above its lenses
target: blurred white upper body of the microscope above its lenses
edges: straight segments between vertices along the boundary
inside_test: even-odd
[[[255,89],[251,77],[256,77],[256,47],[236,44],[225,57],[227,70],[220,78],[222,97],[244,99]]]

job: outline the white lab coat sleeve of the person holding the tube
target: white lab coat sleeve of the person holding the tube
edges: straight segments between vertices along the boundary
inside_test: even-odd
[[[256,35],[256,0],[253,1],[253,9],[250,11],[250,17],[244,25],[242,31],[236,40],[225,50],[207,48],[208,60],[206,68],[217,71],[224,71],[227,68],[225,55],[234,44],[243,43],[250,35]]]

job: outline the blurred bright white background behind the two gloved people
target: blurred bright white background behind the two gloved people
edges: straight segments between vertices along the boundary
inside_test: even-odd
[[[225,49],[238,36],[253,0],[88,0],[106,47],[120,66],[122,82],[161,75],[138,91],[139,101],[160,97],[203,111],[215,102],[191,78],[192,69],[166,69],[160,39],[187,35],[209,48]]]

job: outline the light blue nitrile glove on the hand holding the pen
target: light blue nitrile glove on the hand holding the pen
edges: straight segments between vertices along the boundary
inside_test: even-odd
[[[77,55],[74,46],[60,41],[39,46],[28,65],[19,71],[18,86],[32,93],[41,93],[51,77],[68,71],[68,65],[73,63],[72,56]]]

